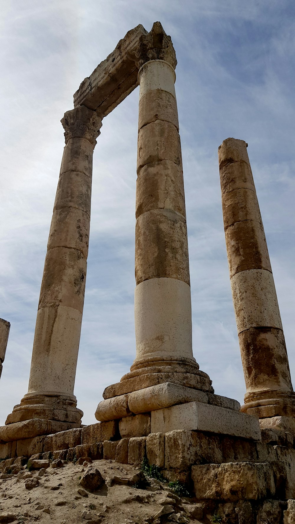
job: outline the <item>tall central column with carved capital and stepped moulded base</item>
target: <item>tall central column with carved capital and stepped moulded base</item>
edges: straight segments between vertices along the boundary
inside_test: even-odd
[[[193,400],[217,403],[212,381],[199,370],[192,351],[184,184],[174,89],[177,62],[171,38],[159,22],[140,37],[133,57],[140,84],[136,357],[130,373],[104,390],[104,400],[96,411],[100,421]],[[209,401],[209,397],[213,399]],[[225,407],[228,403],[224,400],[220,405]],[[236,410],[235,403],[233,406]]]

